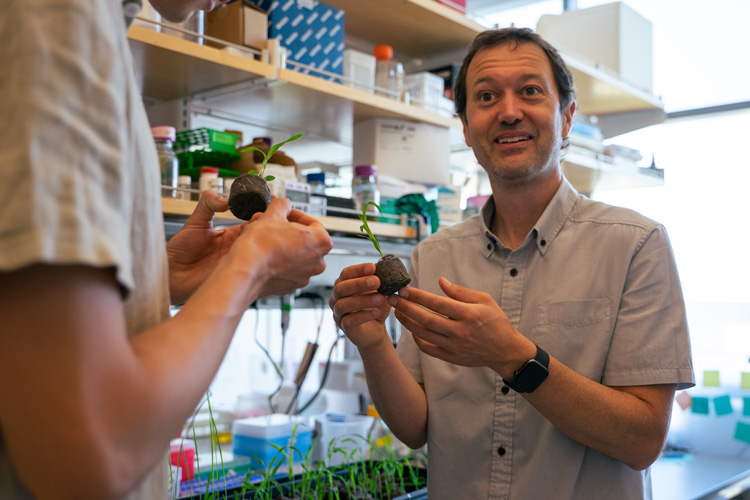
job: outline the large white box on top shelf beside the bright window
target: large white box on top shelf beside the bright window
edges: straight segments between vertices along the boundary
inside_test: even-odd
[[[651,21],[622,2],[569,10],[539,18],[536,31],[568,49],[616,71],[622,79],[653,92]]]

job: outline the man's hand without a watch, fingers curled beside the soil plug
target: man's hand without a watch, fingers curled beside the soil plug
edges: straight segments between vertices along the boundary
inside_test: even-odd
[[[375,264],[358,264],[341,271],[328,301],[333,319],[358,348],[376,345],[387,337],[385,320],[391,306],[377,293],[380,279]]]

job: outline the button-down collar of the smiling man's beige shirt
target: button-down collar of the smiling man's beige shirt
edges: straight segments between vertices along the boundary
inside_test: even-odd
[[[542,255],[547,253],[549,247],[552,246],[560,229],[562,229],[565,221],[568,220],[570,212],[573,210],[578,197],[578,192],[573,188],[570,182],[563,177],[555,196],[552,197],[547,208],[544,209],[542,216],[539,217],[539,220],[534,224],[534,227],[531,230],[530,236],[536,238],[536,246],[539,249],[539,253]],[[495,201],[494,197],[490,196],[482,207],[480,217],[482,232],[487,239],[487,256],[495,251],[496,246],[502,245],[500,240],[497,239],[497,236],[490,231],[494,215]]]

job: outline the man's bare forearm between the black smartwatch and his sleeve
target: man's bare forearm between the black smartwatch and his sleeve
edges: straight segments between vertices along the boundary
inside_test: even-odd
[[[524,397],[579,443],[640,470],[664,445],[674,387],[607,387],[552,358],[547,380]]]

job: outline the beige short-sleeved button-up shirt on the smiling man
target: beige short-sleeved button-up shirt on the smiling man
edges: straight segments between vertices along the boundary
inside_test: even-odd
[[[685,306],[664,228],[579,195],[567,180],[523,245],[510,251],[481,215],[412,254],[414,286],[438,278],[489,293],[513,326],[576,372],[608,386],[693,385]],[[441,499],[651,498],[648,470],[572,440],[490,368],[399,355],[428,402],[428,491]]]

